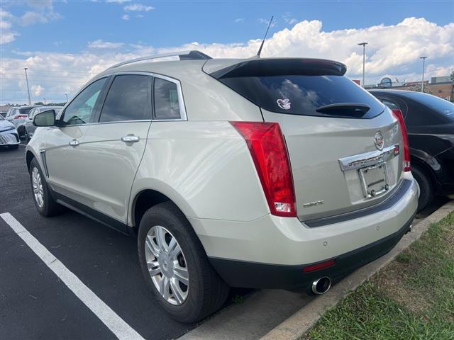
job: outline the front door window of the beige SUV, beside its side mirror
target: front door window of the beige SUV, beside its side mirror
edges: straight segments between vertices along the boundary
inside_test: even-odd
[[[74,98],[63,113],[65,125],[93,123],[94,106],[105,82],[106,78],[94,81]]]

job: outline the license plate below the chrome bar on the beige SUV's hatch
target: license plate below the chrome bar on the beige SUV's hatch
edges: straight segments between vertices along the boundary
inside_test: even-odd
[[[366,198],[375,197],[389,190],[389,176],[386,163],[359,169],[362,191]]]

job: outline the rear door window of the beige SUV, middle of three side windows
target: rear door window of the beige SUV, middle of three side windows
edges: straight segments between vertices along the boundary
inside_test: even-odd
[[[150,87],[150,76],[116,76],[104,101],[99,122],[151,119]]]

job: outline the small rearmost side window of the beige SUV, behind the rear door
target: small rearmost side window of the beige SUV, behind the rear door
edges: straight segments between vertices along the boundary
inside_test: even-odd
[[[155,118],[179,119],[177,84],[165,79],[155,78]]]

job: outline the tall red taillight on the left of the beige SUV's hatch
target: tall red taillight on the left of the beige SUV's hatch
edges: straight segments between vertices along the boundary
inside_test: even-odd
[[[231,122],[245,139],[272,215],[296,217],[287,145],[277,123]]]

